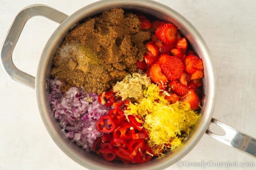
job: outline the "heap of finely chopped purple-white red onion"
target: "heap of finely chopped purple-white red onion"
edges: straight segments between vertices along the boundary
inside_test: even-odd
[[[97,101],[97,94],[88,93],[78,87],[60,91],[62,81],[50,80],[50,104],[54,118],[67,138],[90,151],[97,137],[102,133],[96,129],[96,122],[111,109]]]

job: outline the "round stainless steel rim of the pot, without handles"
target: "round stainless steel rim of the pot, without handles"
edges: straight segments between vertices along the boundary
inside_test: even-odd
[[[193,40],[196,38],[197,50],[201,50],[203,55],[203,62],[205,70],[207,73],[207,80],[205,80],[204,84],[207,85],[207,97],[203,107],[203,116],[198,124],[198,128],[194,131],[193,135],[189,138],[189,142],[184,142],[184,147],[182,149],[175,149],[175,152],[172,154],[172,157],[161,164],[142,164],[140,166],[136,166],[133,169],[164,169],[172,164],[176,163],[178,160],[182,159],[188,152],[190,152],[194,146],[198,143],[198,141],[203,136],[204,132],[207,130],[210,120],[213,114],[214,108],[214,99],[215,99],[215,77],[214,77],[214,69],[211,61],[211,55],[209,49],[206,45],[206,42],[203,40],[202,36],[198,33],[198,31],[192,26],[190,22],[187,21],[183,16],[177,13],[172,8],[160,4],[159,2],[151,1],[151,0],[102,0],[94,2],[90,5],[87,5],[80,10],[76,11],[68,18],[66,18],[60,26],[54,31],[54,33],[50,36],[49,40],[44,47],[42,52],[37,75],[36,75],[36,96],[37,103],[41,118],[43,120],[44,125],[53,141],[56,145],[71,159],[80,165],[88,168],[88,169],[114,169],[113,166],[107,166],[100,163],[92,162],[91,160],[81,158],[81,153],[72,150],[70,145],[64,142],[64,138],[60,136],[60,132],[54,128],[52,120],[52,115],[49,114],[49,98],[46,96],[46,81],[49,82],[49,70],[47,70],[47,66],[52,65],[52,61],[50,61],[50,56],[53,51],[55,53],[58,46],[62,42],[66,33],[72,28],[78,21],[86,18],[88,15],[100,13],[104,10],[114,8],[114,7],[143,7],[148,9],[154,9],[162,14],[165,14],[167,17],[170,16],[172,19],[176,19],[178,21],[178,25],[186,28],[187,32],[191,34],[191,37],[187,37],[188,40]],[[146,11],[145,11],[146,12]],[[169,18],[170,19],[170,18]],[[177,26],[177,25],[176,25]],[[183,33],[184,35],[184,33]],[[186,36],[186,35],[185,35]],[[190,41],[191,42],[191,41]],[[193,44],[192,44],[193,45]],[[48,76],[48,77],[47,77]],[[207,82],[206,82],[207,81]],[[47,103],[48,102],[48,103]],[[62,135],[62,134],[61,134]],[[64,136],[64,135],[63,135]],[[177,150],[177,151],[176,151]],[[162,159],[162,158],[161,158]],[[123,168],[123,169],[131,169]]]

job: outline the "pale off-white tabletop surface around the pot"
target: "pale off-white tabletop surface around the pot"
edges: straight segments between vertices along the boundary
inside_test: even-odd
[[[46,4],[71,14],[91,2],[93,1],[76,0],[70,4],[63,0],[2,0],[0,42],[3,41],[17,12],[27,5]],[[256,136],[256,2],[161,2],[186,17],[201,33],[212,52],[217,76],[214,118]],[[13,54],[14,63],[18,68],[32,75],[36,74],[43,46],[57,26],[57,23],[42,17],[28,21]],[[84,169],[62,153],[47,134],[39,116],[34,91],[9,79],[2,69],[0,82],[0,169]],[[183,160],[256,162],[255,159],[207,135],[203,136]],[[169,169],[178,168],[173,165]]]

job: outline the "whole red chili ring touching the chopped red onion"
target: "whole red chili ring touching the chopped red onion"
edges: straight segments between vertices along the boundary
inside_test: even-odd
[[[102,116],[96,123],[96,128],[101,133],[113,132],[116,128],[113,120],[109,116]]]

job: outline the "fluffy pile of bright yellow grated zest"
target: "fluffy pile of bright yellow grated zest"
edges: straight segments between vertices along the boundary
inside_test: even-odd
[[[143,90],[143,98],[137,103],[129,103],[125,114],[138,115],[144,120],[143,127],[149,133],[149,146],[160,145],[162,149],[173,150],[190,133],[199,114],[191,110],[187,102],[170,104],[165,100],[165,94],[159,96],[159,92],[157,85],[149,85]]]

